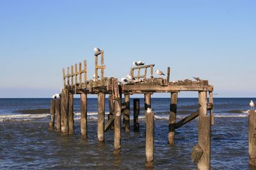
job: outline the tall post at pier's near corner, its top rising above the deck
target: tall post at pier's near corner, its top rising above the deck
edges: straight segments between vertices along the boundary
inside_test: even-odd
[[[114,136],[114,155],[121,153],[121,100],[117,78],[112,79],[112,92],[115,106],[115,136]]]

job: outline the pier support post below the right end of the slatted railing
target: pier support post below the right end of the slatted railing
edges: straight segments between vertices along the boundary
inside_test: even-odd
[[[87,94],[81,94],[81,134],[82,138],[87,138]]]

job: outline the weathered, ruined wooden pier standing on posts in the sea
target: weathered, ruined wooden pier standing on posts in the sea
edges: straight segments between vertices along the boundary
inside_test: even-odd
[[[87,80],[86,60],[79,62],[67,69],[63,68],[63,85],[61,99],[53,100],[51,103],[51,122],[49,129],[60,132],[61,135],[74,134],[74,94],[81,95],[81,136],[86,139],[87,134],[87,95],[98,96],[98,121],[97,136],[99,142],[104,142],[104,133],[109,129],[114,129],[114,155],[121,153],[121,131],[130,132],[130,104],[132,94],[144,94],[145,97],[145,117],[146,117],[146,166],[154,164],[154,112],[147,113],[147,108],[151,108],[151,96],[157,92],[170,94],[170,118],[169,133],[166,139],[170,145],[175,145],[175,129],[182,127],[191,120],[198,117],[198,150],[193,150],[192,160],[198,164],[198,169],[210,169],[211,162],[211,125],[213,124],[213,100],[212,85],[207,80],[180,80],[170,81],[170,67],[166,69],[166,78],[156,78],[153,76],[154,64],[132,67],[130,75],[134,80],[122,83],[117,78],[104,76],[104,52],[100,51],[95,56],[95,77]],[[99,64],[100,58],[100,64]],[[100,69],[100,74],[99,74]],[[100,75],[100,76],[99,76]],[[178,94],[182,91],[198,92],[198,110],[188,117],[176,122]],[[207,93],[209,103],[207,101]],[[109,94],[109,117],[105,122],[105,97]],[[122,103],[124,95],[124,103]],[[140,114],[140,101],[133,99],[134,108],[134,131],[140,129],[138,115]],[[54,109],[55,108],[55,109]],[[55,119],[54,119],[55,115]],[[121,122],[123,117],[123,122]],[[55,121],[56,120],[56,121]],[[54,123],[55,121],[55,123]],[[192,148],[191,148],[192,150]],[[156,158],[157,159],[157,158]]]

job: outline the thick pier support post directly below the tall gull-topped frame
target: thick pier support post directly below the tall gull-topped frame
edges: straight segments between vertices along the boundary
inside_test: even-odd
[[[105,94],[98,93],[98,141],[104,142]]]

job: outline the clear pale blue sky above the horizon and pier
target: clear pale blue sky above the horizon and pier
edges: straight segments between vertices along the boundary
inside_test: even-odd
[[[93,46],[106,76],[143,60],[209,80],[215,97],[256,96],[256,1],[0,0],[0,97],[51,97],[85,59],[92,78]]]

